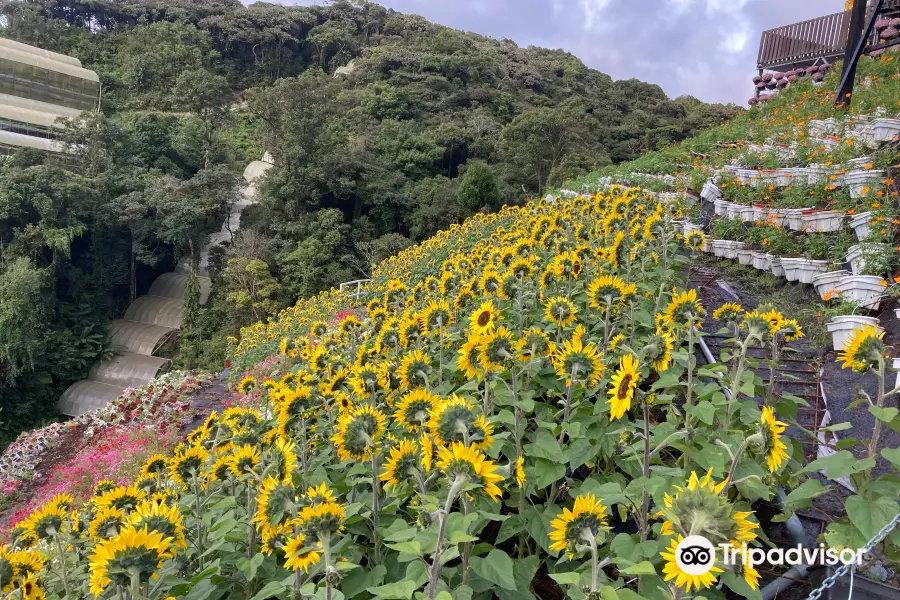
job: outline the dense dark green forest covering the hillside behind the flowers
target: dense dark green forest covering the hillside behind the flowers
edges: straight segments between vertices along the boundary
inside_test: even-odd
[[[77,169],[0,167],[0,446],[116,351],[107,321],[218,228],[264,150],[275,167],[176,364],[218,366],[241,325],[740,110],[361,1],[7,0],[0,35],[103,86],[62,134]]]

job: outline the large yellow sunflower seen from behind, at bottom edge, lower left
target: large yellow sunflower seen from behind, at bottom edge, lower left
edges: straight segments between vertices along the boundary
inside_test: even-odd
[[[116,537],[94,546],[90,557],[91,593],[100,596],[111,583],[130,586],[146,583],[162,561],[172,556],[171,541],[147,527],[127,527]]]

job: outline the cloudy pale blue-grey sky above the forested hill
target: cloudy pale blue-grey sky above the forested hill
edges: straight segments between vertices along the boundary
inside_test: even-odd
[[[246,0],[245,0],[246,1]],[[843,0],[377,0],[520,46],[562,48],[615,79],[669,96],[744,104],[765,29],[843,9]],[[281,0],[285,4],[321,4]]]

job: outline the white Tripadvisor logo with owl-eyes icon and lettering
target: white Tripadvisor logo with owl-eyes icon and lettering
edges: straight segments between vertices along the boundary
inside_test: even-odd
[[[825,544],[813,547],[793,548],[750,548],[746,544],[719,544],[722,549],[722,563],[725,566],[743,564],[753,568],[760,564],[769,565],[862,565],[865,550],[852,548],[826,548]],[[740,557],[740,558],[739,558]],[[709,573],[716,564],[716,547],[702,535],[689,535],[675,547],[675,561],[686,574],[700,576]]]

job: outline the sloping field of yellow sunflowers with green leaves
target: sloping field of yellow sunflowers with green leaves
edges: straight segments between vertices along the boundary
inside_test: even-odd
[[[0,588],[758,596],[754,569],[690,575],[673,548],[689,535],[763,544],[751,505],[785,487],[799,490],[789,507],[809,497],[778,416],[796,406],[747,355],[803,333],[774,311],[723,307],[732,356],[698,365],[705,309],[685,286],[703,239],[679,231],[634,188],[507,207],[377,266],[358,303],[333,291],[245,329],[233,351],[245,403],[136,481],[36,510],[0,547]]]

